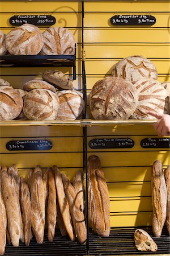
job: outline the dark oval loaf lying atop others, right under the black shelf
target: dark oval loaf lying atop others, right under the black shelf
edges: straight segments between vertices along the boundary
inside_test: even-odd
[[[61,71],[47,70],[42,73],[42,78],[58,89],[73,90],[73,82]]]

